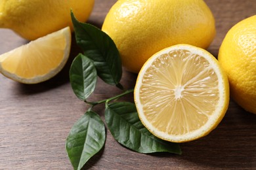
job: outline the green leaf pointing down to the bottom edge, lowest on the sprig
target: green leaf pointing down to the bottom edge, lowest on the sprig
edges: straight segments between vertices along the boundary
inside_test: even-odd
[[[66,139],[66,150],[74,169],[81,169],[104,146],[105,140],[105,126],[100,116],[87,111]]]

